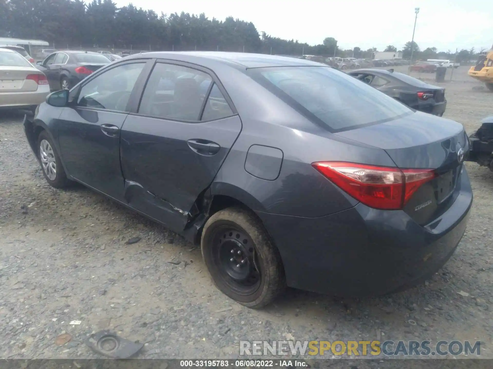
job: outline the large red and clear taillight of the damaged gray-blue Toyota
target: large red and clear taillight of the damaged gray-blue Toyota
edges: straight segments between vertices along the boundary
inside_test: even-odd
[[[340,161],[321,161],[312,166],[356,200],[385,210],[402,209],[418,188],[435,177],[432,169],[399,169]]]

